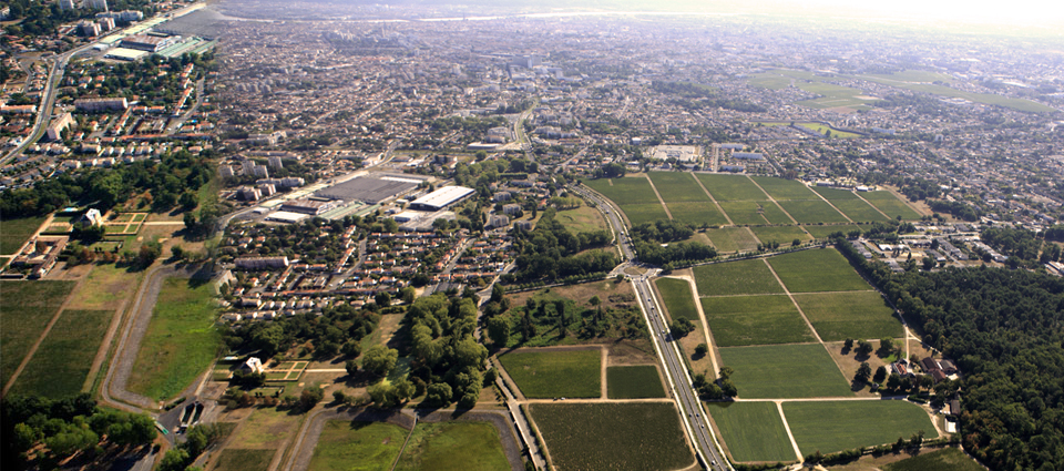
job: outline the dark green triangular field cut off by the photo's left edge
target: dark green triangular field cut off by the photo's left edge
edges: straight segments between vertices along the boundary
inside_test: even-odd
[[[44,326],[63,304],[73,281],[0,281],[0,377],[14,373]]]

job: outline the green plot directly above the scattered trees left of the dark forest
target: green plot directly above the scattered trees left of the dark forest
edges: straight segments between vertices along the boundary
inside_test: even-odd
[[[823,341],[900,338],[901,322],[877,291],[795,295]]]

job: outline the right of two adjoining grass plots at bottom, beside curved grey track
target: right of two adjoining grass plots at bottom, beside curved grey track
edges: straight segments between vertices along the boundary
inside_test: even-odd
[[[410,434],[395,469],[495,471],[510,469],[510,462],[502,451],[499,431],[491,423],[421,422]]]

